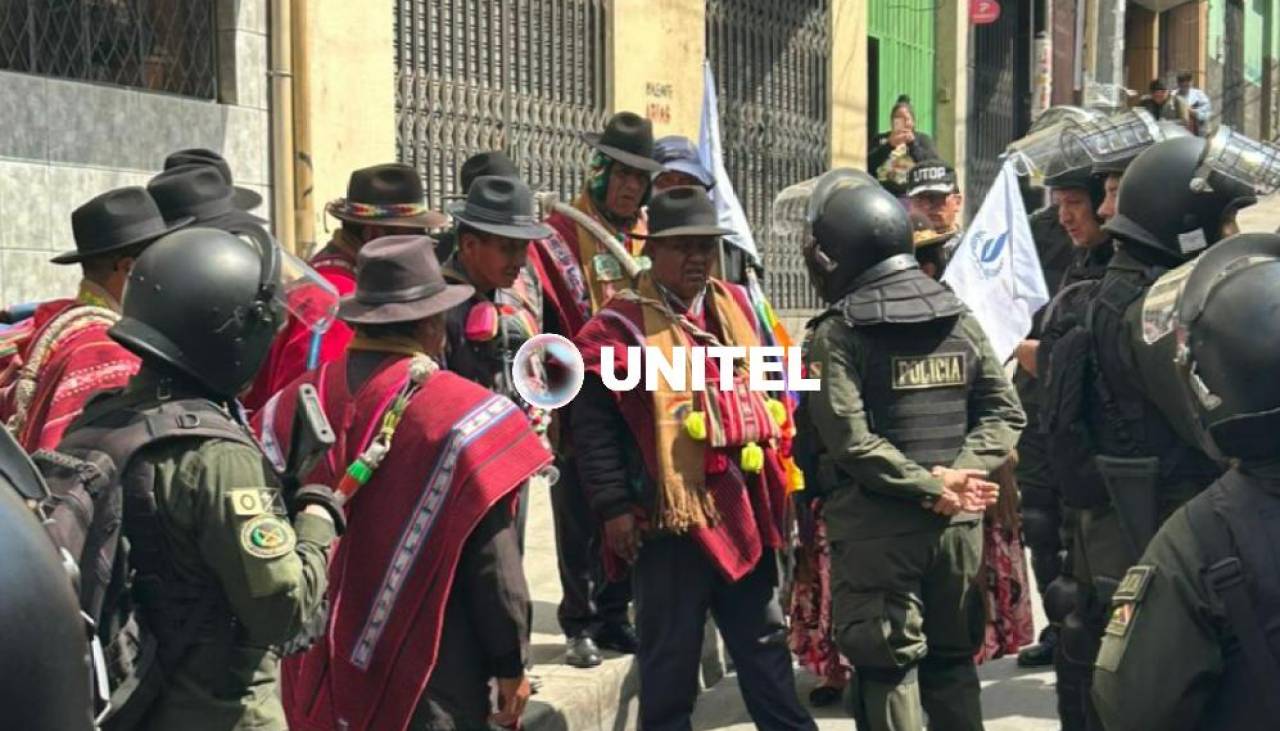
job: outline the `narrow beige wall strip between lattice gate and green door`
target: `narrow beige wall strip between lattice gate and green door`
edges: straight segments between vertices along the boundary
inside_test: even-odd
[[[831,4],[831,166],[867,165],[867,0]]]

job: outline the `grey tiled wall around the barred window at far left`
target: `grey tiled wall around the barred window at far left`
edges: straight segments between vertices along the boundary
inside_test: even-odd
[[[73,292],[79,268],[49,264],[74,248],[72,210],[146,184],[174,150],[220,151],[237,184],[270,200],[265,5],[218,1],[219,96],[230,104],[0,72],[0,303]]]

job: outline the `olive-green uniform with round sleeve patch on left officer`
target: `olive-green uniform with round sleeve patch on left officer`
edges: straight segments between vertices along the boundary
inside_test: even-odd
[[[173,570],[193,586],[220,586],[234,617],[232,632],[197,640],[169,673],[146,728],[287,728],[271,645],[319,609],[333,524],[300,515],[291,526],[274,474],[247,444],[168,442],[141,454],[138,469],[154,471]]]

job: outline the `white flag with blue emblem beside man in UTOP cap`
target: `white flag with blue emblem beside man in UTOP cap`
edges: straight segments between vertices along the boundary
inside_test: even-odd
[[[1007,361],[1030,332],[1032,315],[1048,302],[1011,161],[1000,169],[942,280],[973,310],[1001,362]]]

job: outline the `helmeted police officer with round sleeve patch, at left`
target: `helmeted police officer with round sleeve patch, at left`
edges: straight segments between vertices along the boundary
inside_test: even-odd
[[[285,728],[273,645],[320,607],[342,511],[324,486],[283,495],[239,421],[236,396],[285,319],[284,287],[269,238],[255,246],[192,228],[157,241],[134,265],[110,329],[142,369],[91,403],[60,444],[111,453],[140,422],[166,437],[115,454],[133,581],[143,588],[136,598],[168,658],[141,728]],[[150,499],[129,502],[138,490]]]

